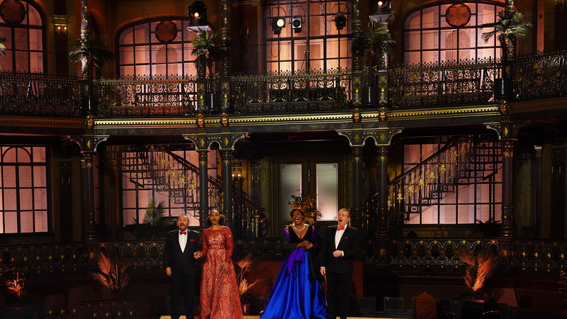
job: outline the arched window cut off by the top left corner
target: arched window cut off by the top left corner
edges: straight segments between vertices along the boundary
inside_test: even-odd
[[[43,13],[32,2],[0,1],[0,37],[6,41],[6,56],[0,69],[13,72],[45,70],[45,30]]]

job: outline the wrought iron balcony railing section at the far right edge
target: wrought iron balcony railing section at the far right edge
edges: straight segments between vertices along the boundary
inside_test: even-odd
[[[567,95],[567,51],[520,55],[516,62],[517,99]]]

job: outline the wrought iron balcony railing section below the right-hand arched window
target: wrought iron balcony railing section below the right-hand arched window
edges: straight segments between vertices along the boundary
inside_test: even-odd
[[[395,67],[389,73],[393,108],[471,105],[494,101],[494,81],[500,62],[461,60]]]

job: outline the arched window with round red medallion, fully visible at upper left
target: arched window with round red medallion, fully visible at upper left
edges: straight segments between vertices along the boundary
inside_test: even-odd
[[[130,24],[118,33],[120,76],[196,75],[196,33],[186,18],[159,18]]]

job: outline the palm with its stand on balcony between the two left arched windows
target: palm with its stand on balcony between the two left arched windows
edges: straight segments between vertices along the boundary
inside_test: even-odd
[[[114,59],[114,53],[109,51],[100,39],[79,39],[69,50],[71,62],[82,62],[83,79],[83,113],[96,113],[96,101],[93,96],[93,67],[101,68],[102,65]]]

